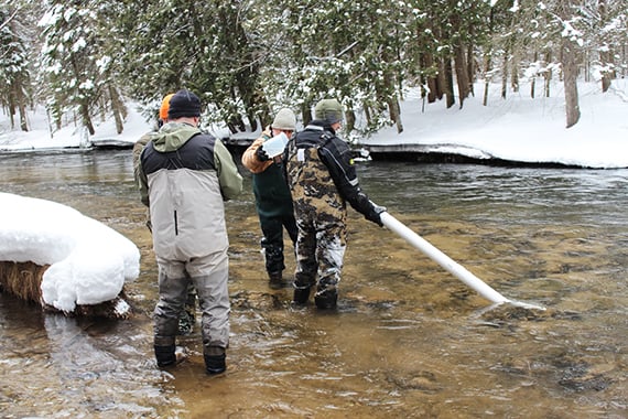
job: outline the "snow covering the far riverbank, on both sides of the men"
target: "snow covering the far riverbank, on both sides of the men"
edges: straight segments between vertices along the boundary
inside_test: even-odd
[[[418,90],[408,92],[402,101],[403,132],[394,127],[368,139],[366,146],[426,144],[432,151],[468,157],[494,157],[521,162],[546,162],[586,168],[628,168],[628,80],[613,82],[602,93],[599,83],[578,87],[581,120],[565,128],[562,84],[551,88],[552,97],[530,98],[530,87],[500,98],[500,86],[492,86],[487,106],[483,106],[483,85],[476,97],[464,107],[446,109],[443,101],[423,104]],[[51,136],[43,109],[30,114],[33,130],[11,130],[6,115],[0,115],[0,151],[24,151],[45,148],[89,147],[90,142],[134,142],[153,128],[134,106],[129,107],[124,132],[117,135],[112,121],[97,126],[96,135],[87,138],[84,130],[68,125]],[[216,131],[215,131],[216,133]],[[225,130],[220,130],[224,135]],[[52,138],[51,138],[52,137]],[[250,135],[248,136],[250,137]]]

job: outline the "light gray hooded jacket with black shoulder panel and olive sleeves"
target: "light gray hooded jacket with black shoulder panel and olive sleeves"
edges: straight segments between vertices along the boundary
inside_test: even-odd
[[[188,260],[228,247],[223,201],[242,190],[227,148],[198,128],[169,122],[140,155],[142,202],[159,257]]]

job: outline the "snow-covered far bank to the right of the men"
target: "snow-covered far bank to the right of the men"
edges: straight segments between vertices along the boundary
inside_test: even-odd
[[[481,92],[476,86],[476,92]],[[429,105],[418,98],[402,107],[404,131],[379,132],[365,144],[435,144],[443,152],[491,155],[521,162],[551,162],[588,168],[628,166],[628,80],[615,80],[602,94],[599,84],[578,88],[581,119],[565,128],[562,85],[555,97],[529,95],[529,86],[506,100],[492,89],[487,106],[481,97],[465,100],[463,109]]]

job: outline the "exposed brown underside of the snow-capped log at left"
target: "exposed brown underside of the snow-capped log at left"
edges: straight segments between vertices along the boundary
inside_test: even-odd
[[[46,304],[42,297],[42,279],[50,265],[33,262],[0,261],[0,291],[20,300],[35,303],[46,311],[61,312],[65,315],[96,316],[107,319],[128,319],[131,307],[126,300],[124,290],[113,300],[97,304],[77,304],[73,312],[64,312]]]

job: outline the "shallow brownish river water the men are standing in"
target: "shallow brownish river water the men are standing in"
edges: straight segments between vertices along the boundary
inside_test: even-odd
[[[333,313],[292,309],[290,288],[268,287],[242,171],[245,192],[226,204],[228,370],[208,377],[198,327],[180,340],[188,361],[154,364],[156,266],[131,152],[0,159],[2,192],[75,207],[142,255],[129,320],[65,318],[0,294],[0,417],[628,416],[627,170],[360,163],[375,202],[498,292],[546,310],[492,308],[349,210]]]

